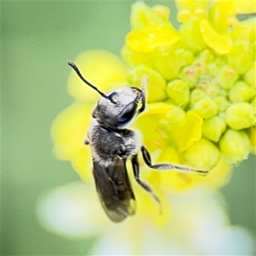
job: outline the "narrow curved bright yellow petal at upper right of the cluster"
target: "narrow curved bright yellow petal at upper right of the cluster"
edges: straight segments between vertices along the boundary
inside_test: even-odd
[[[219,35],[207,20],[202,20],[200,29],[205,43],[219,54],[227,54],[232,49],[232,40],[228,36]]]

